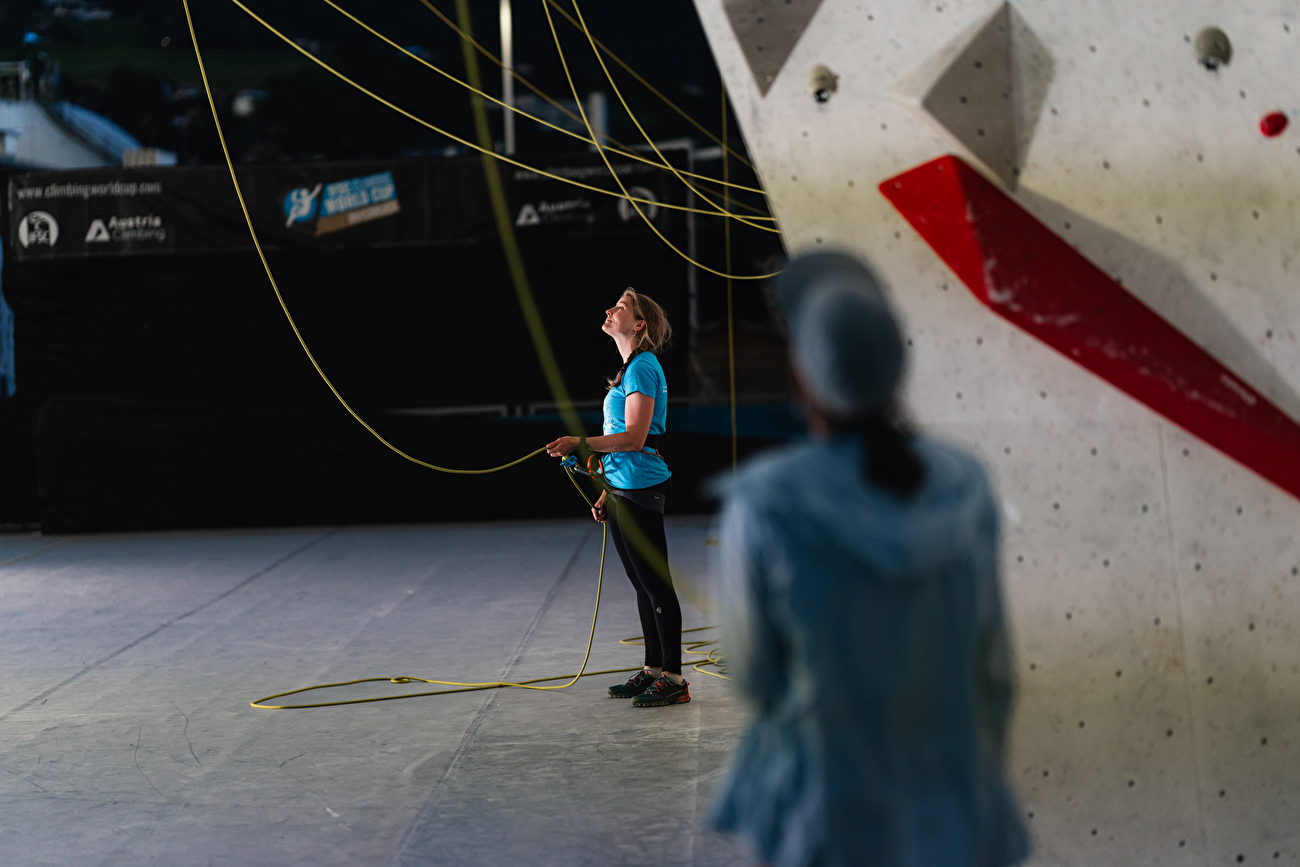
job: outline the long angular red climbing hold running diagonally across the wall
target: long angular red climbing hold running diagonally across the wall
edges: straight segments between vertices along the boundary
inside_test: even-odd
[[[880,192],[994,313],[1300,498],[1300,425],[959,157]]]

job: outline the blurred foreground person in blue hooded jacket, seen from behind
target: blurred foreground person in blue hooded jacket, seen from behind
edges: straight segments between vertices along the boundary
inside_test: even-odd
[[[989,482],[897,421],[904,341],[864,265],[807,256],[779,290],[811,441],[724,482],[723,651],[753,720],[714,824],[772,867],[1017,863]]]

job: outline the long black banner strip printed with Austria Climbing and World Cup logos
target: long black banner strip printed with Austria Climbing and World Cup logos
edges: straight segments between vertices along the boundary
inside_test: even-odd
[[[520,235],[646,231],[627,200],[546,177],[616,191],[599,159],[541,162],[540,172],[499,165]],[[641,162],[616,170],[634,196],[667,199],[671,175],[662,170]],[[235,173],[268,250],[458,244],[495,235],[478,157],[240,166]],[[658,204],[642,211],[668,222]],[[230,174],[220,166],[13,175],[8,239],[18,261],[251,246]]]

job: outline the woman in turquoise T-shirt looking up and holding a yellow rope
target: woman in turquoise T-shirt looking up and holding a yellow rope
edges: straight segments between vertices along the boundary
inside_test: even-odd
[[[585,445],[602,455],[604,490],[592,516],[608,524],[637,591],[646,647],[644,668],[610,686],[610,695],[630,698],[634,707],[681,705],[690,701],[690,684],[681,676],[681,604],[668,573],[663,529],[672,472],[658,448],[668,421],[668,381],[655,357],[672,337],[672,326],[654,300],[628,289],[604,311],[602,330],[623,356],[623,368],[604,395],[603,435],[560,437],[546,452],[563,458]]]

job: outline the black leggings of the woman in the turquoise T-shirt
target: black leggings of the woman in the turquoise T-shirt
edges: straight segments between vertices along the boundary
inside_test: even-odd
[[[614,547],[619,551],[623,568],[628,571],[628,578],[637,591],[641,634],[646,637],[645,664],[680,675],[681,604],[677,602],[677,593],[672,589],[672,577],[668,575],[668,539],[663,533],[663,515],[612,494],[604,498],[604,504]],[[656,559],[660,568],[656,569],[642,554],[641,547],[624,536],[620,524],[633,524],[641,530],[642,545],[649,542],[659,552]]]

